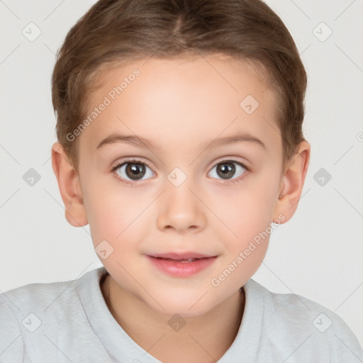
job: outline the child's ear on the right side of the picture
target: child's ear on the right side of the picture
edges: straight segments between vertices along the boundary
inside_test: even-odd
[[[310,144],[303,140],[298,145],[298,152],[287,164],[284,175],[281,178],[279,196],[274,210],[274,220],[283,214],[285,219],[281,223],[286,223],[294,216],[303,190],[306,173],[308,172],[309,160]]]

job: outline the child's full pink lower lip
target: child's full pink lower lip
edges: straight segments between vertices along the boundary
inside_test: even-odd
[[[167,259],[161,259],[146,255],[152,264],[160,271],[174,277],[190,277],[203,269],[211,266],[217,256],[197,259],[194,262],[172,262]]]

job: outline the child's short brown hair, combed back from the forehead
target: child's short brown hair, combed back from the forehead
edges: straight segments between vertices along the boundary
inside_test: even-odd
[[[230,55],[265,69],[279,103],[283,159],[291,159],[304,140],[306,72],[289,30],[263,1],[100,0],[67,33],[52,74],[57,138],[74,169],[78,138],[67,135],[86,117],[96,75],[115,62],[188,54]]]

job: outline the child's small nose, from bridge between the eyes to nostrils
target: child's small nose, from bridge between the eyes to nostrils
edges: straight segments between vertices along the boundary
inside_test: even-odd
[[[160,201],[157,224],[160,229],[174,228],[181,231],[188,228],[203,228],[202,203],[195,195],[194,178],[179,167],[167,175],[165,191]]]

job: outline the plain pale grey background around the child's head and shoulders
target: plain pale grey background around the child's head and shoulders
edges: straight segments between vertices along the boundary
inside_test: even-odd
[[[50,160],[55,53],[94,2],[0,1],[1,291],[77,279],[101,266],[88,225],[74,228],[65,219]],[[298,210],[272,233],[253,279],[330,308],[362,344],[363,1],[267,4],[291,32],[308,73],[304,133],[312,153]],[[22,33],[31,22],[41,30],[33,42]],[[30,168],[40,175],[33,186],[23,179]]]

